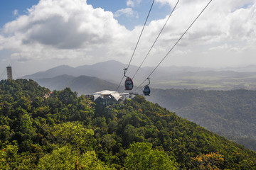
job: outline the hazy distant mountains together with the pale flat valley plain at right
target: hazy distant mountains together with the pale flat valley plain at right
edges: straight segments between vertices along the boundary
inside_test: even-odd
[[[62,65],[48,69],[45,72],[37,72],[27,75],[26,79],[53,78],[60,75],[79,77],[97,77],[113,84],[119,84],[123,76],[126,64],[114,60],[100,62],[93,65],[70,67]],[[134,77],[138,67],[130,65],[127,76]],[[152,72],[154,67],[142,67],[134,77],[134,84],[141,84]],[[250,71],[250,72],[247,72]],[[199,67],[159,67],[151,75],[151,87],[160,89],[256,89],[256,67],[240,67],[225,69],[206,69]]]

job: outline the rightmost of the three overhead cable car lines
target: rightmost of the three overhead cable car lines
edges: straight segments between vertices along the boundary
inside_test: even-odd
[[[178,38],[178,40],[177,40],[177,42],[174,44],[174,46],[171,47],[171,50],[169,50],[169,52],[167,52],[167,54],[164,56],[164,58],[161,60],[161,62],[163,62],[163,61],[166,59],[166,57],[167,57],[167,56],[169,55],[169,53],[174,49],[174,47],[178,44],[178,42],[181,40],[181,38],[183,38],[183,36],[188,32],[188,30],[191,28],[191,26],[193,26],[193,23],[195,23],[196,20],[199,18],[199,16],[201,16],[201,14],[203,13],[203,11],[206,10],[206,8],[209,6],[209,4],[210,4],[211,1],[213,1],[213,0],[210,0],[210,1],[208,2],[208,4],[203,8],[203,10],[201,11],[201,13],[198,14],[198,16],[196,17],[196,19],[191,23],[191,25],[186,29],[186,31],[181,35],[181,37]],[[148,77],[150,77],[151,74],[154,73],[154,71],[157,69],[157,67],[159,67],[159,65],[161,64],[161,62],[159,62],[159,64],[157,64],[157,66],[153,69],[153,71],[149,74]],[[147,79],[147,78],[146,78],[146,79]],[[139,86],[137,87],[137,89],[139,89],[139,87],[142,86],[142,84],[144,84],[144,82],[146,81],[146,79],[145,79],[141,84],[139,84]],[[135,91],[137,91],[137,89],[135,89]]]

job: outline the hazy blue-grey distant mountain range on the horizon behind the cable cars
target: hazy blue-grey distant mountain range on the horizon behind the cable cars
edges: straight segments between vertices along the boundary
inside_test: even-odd
[[[83,65],[80,67],[70,67],[67,65],[61,65],[59,67],[54,67],[52,69],[48,69],[45,72],[37,72],[35,74],[26,75],[25,79],[42,79],[42,78],[52,78],[57,77],[63,74],[67,74],[73,77],[79,77],[81,75],[90,76],[90,77],[98,77],[100,79],[105,79],[108,81],[113,81],[115,83],[119,83],[120,79],[124,74],[124,67],[127,67],[127,64],[122,64],[121,62],[117,62],[114,60],[110,60],[107,62],[100,62],[92,65]],[[133,77],[135,72],[139,67],[130,65],[127,71],[128,77]],[[134,78],[135,81],[141,81],[142,79],[146,79],[154,67],[142,67],[139,69],[139,72],[136,74]],[[181,72],[195,72],[195,71],[206,71],[208,69],[198,68],[198,67],[159,67],[156,72],[151,76],[153,78],[157,77],[169,77],[170,74],[181,73]]]

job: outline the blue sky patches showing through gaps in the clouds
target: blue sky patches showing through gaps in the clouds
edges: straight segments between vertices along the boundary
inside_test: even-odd
[[[26,15],[27,8],[38,4],[39,0],[3,0],[0,1],[0,27],[3,27],[5,23],[9,21],[14,21],[18,16]],[[137,6],[134,6],[134,16],[127,17],[125,15],[115,17],[120,24],[126,26],[129,30],[132,30],[134,26],[144,24],[146,15],[149,11],[152,1],[146,0],[142,1]],[[92,5],[94,8],[103,8],[105,11],[112,11],[112,13],[117,12],[119,9],[127,8],[126,1],[118,0],[87,0],[87,4]],[[16,12],[16,13],[15,13]],[[149,21],[163,18],[170,12],[170,6],[163,6],[156,3],[154,8],[152,8],[151,16]]]

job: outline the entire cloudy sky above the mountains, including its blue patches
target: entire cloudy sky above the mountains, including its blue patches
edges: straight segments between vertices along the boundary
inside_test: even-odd
[[[107,60],[139,66],[178,0],[1,0],[0,74]],[[180,0],[142,67],[155,67],[210,0]],[[161,66],[256,64],[256,0],[213,0]],[[120,74],[122,74],[122,70]]]

